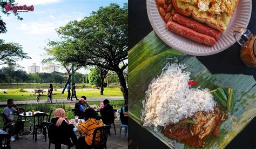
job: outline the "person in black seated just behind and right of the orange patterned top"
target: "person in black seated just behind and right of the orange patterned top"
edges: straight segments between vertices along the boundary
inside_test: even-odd
[[[104,107],[103,109],[100,109],[100,115],[102,116],[103,123],[105,125],[110,125],[111,121],[113,121],[114,118],[114,109],[109,104],[109,100],[105,99],[103,100]]]

